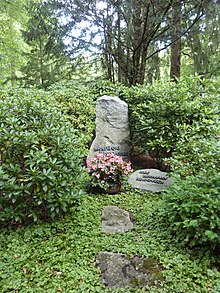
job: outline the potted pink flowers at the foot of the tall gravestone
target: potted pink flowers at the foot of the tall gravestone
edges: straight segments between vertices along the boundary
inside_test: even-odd
[[[124,162],[121,156],[113,153],[99,153],[87,162],[87,168],[93,189],[107,193],[117,193],[122,177],[133,171],[131,162]]]

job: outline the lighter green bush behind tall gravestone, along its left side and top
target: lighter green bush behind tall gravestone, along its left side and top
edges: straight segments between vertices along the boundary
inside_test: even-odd
[[[103,95],[119,96],[122,89],[121,84],[109,81],[87,84],[63,81],[48,88],[46,94],[56,100],[57,106],[84,135],[84,145],[88,148],[95,132],[96,100]]]

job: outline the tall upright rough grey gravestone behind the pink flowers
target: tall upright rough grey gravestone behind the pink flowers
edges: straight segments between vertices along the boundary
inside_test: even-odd
[[[96,137],[87,160],[98,153],[114,153],[129,161],[128,105],[118,97],[102,96],[96,102]]]

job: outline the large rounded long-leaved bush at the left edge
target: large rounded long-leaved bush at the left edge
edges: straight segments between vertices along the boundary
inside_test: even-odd
[[[79,134],[53,104],[25,90],[0,99],[0,223],[54,218],[82,193]]]

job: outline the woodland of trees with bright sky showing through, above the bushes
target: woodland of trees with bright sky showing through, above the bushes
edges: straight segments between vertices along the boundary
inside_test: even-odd
[[[219,74],[217,0],[0,2],[2,85]]]

